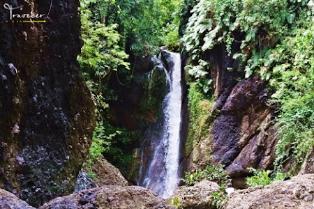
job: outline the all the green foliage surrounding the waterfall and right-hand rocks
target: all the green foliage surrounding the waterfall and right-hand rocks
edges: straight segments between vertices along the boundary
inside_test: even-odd
[[[107,101],[117,100],[117,96],[106,83],[116,79],[111,77],[113,73],[131,81],[128,54],[154,54],[162,45],[177,50],[181,21],[181,44],[190,56],[186,66],[190,86],[186,155],[209,135],[215,116],[210,111],[214,107],[211,64],[204,61],[204,52],[224,44],[231,56],[237,42],[241,47],[232,56],[239,60],[239,69],[244,69],[246,78],[261,75],[271,95],[269,105],[278,109],[276,169],[281,170],[291,158],[298,164],[304,162],[314,146],[313,5],[308,0],[81,0],[84,46],[78,61],[98,103],[91,159],[105,155],[116,165],[130,162],[129,153],[122,148],[137,137],[108,123]],[[184,26],[184,18],[189,16]],[[148,103],[155,99],[147,95]],[[194,185],[214,178],[211,173],[218,171],[224,175],[223,170],[207,167],[197,171],[192,180],[190,173],[186,174],[184,181]],[[274,180],[267,171],[252,171],[255,176],[248,178],[249,185]],[[223,195],[215,195],[218,203]]]

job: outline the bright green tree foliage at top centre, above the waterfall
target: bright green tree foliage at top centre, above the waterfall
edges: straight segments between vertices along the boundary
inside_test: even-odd
[[[134,54],[157,52],[161,45],[178,48],[179,8],[171,0],[94,0],[94,17],[105,24],[118,24],[119,45]]]

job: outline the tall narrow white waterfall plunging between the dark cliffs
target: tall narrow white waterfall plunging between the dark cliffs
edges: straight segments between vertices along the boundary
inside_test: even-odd
[[[163,100],[161,134],[155,141],[150,139],[150,146],[154,150],[154,154],[149,161],[146,172],[144,173],[143,168],[140,169],[140,176],[142,176],[140,185],[153,190],[163,198],[171,196],[180,181],[181,56],[178,53],[170,54],[174,65],[169,72],[165,70],[170,90]],[[143,157],[147,157],[144,152],[142,152],[142,159]]]

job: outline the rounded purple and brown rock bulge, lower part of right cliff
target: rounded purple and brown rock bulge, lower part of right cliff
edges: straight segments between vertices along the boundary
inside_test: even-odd
[[[257,75],[239,82],[211,130],[214,162],[224,164],[232,177],[243,174],[247,167],[269,166],[262,162],[264,153],[271,153],[267,142],[274,145],[272,139],[267,140],[272,137],[267,137],[271,110],[265,104],[264,88]]]

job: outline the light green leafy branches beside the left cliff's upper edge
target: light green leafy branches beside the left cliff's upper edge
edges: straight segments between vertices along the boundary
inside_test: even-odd
[[[90,0],[81,1],[82,39],[84,45],[78,61],[83,75],[93,88],[94,93],[103,91],[101,84],[110,77],[113,71],[119,68],[130,69],[126,52],[119,47],[121,38],[115,31],[117,24],[106,26],[94,20],[89,10]]]

